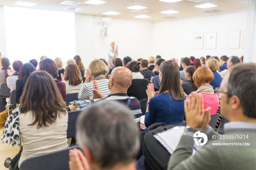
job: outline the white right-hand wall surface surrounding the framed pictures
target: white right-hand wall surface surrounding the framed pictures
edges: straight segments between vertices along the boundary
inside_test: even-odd
[[[244,55],[243,36],[246,28],[246,8],[206,15],[169,19],[153,24],[153,56],[165,59],[206,55],[238,57]],[[227,49],[228,31],[241,30],[240,49]],[[206,50],[206,33],[217,32],[216,50]],[[194,49],[194,34],[204,33],[202,50]]]

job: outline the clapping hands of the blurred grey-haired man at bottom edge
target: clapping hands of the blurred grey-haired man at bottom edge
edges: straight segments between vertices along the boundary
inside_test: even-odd
[[[74,148],[69,150],[69,169],[70,170],[90,170],[89,163],[83,153]]]

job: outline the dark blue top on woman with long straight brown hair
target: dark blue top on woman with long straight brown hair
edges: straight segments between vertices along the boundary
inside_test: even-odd
[[[176,124],[184,119],[184,100],[174,100],[170,93],[162,93],[149,100],[145,126],[154,123]]]

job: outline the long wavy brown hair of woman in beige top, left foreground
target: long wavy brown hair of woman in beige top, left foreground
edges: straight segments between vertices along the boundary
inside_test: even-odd
[[[59,112],[66,113],[65,107],[52,76],[45,71],[31,73],[20,98],[20,112],[32,111],[34,115],[34,122],[31,125],[38,123],[37,128],[40,128],[53,123]]]

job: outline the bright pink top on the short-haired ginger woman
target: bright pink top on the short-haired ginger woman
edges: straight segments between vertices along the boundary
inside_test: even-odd
[[[218,94],[201,93],[204,100],[204,109],[211,107],[210,114],[214,115],[217,113],[219,108],[219,96]]]

